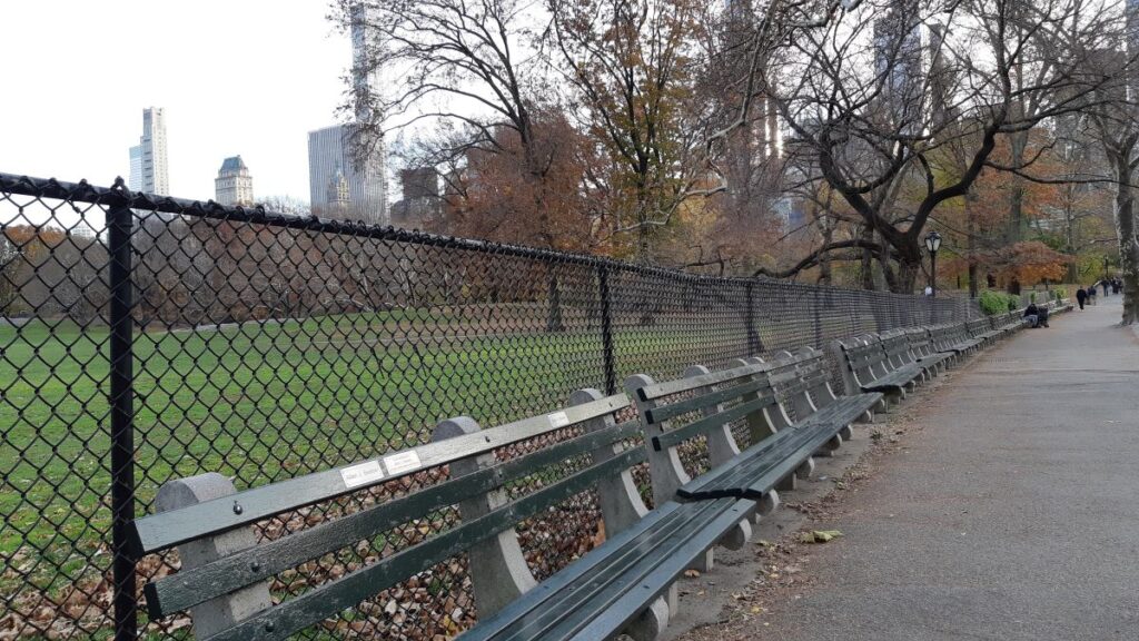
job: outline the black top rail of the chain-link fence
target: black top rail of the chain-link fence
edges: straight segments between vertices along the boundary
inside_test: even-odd
[[[213,201],[195,201],[189,198],[178,198],[173,196],[158,196],[141,192],[131,192],[123,179],[116,178],[112,187],[100,187],[91,185],[85,179],[79,182],[65,182],[55,178],[33,178],[30,176],[18,176],[14,173],[0,172],[0,193],[18,194],[23,196],[55,198],[67,202],[81,202],[105,206],[126,206],[142,211],[154,211],[162,213],[192,216],[208,220],[223,220],[230,222],[249,222],[300,229],[305,232],[345,234],[361,238],[372,238],[377,241],[391,241],[410,243],[416,245],[461,249],[486,254],[510,255],[516,258],[549,260],[562,263],[575,263],[606,268],[611,271],[625,271],[641,275],[655,275],[669,278],[683,278],[691,282],[719,282],[748,284],[754,282],[778,282],[790,287],[808,287],[812,291],[847,292],[849,289],[834,285],[820,285],[813,283],[795,283],[778,281],[765,276],[708,276],[703,274],[691,274],[680,269],[666,267],[653,267],[636,265],[613,258],[598,257],[583,253],[564,252],[499,243],[493,241],[481,241],[476,238],[461,238],[443,234],[429,234],[426,232],[400,229],[393,226],[369,225],[355,220],[337,220],[321,218],[317,216],[295,216],[269,211],[261,205],[252,208],[227,206]],[[896,294],[893,292],[875,292],[878,295],[910,297],[912,294]]]

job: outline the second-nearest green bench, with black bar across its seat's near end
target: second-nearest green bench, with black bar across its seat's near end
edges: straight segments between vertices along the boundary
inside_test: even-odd
[[[813,456],[839,447],[850,423],[869,420],[882,401],[880,395],[836,397],[825,372],[822,354],[804,348],[719,372],[691,367],[662,383],[644,374],[626,380],[650,447],[656,500],[751,500],[761,514],[778,505],[778,492],[794,489],[796,478],[813,471]],[[747,447],[736,439],[737,424]],[[691,461],[694,454],[703,461]],[[746,541],[744,525],[732,545]]]

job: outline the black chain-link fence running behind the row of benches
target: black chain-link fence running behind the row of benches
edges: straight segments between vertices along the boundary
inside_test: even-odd
[[[495,424],[633,373],[973,309],[2,173],[0,225],[0,640],[185,635],[138,608],[177,559],[122,546],[171,478],[262,485],[449,416]],[[462,627],[429,609],[383,634]]]

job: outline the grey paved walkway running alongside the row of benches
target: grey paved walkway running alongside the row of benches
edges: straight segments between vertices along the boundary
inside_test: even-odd
[[[1120,298],[978,356],[756,639],[1139,639],[1139,335]]]

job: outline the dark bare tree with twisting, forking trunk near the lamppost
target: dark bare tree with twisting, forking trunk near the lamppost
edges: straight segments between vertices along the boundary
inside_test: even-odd
[[[966,196],[985,168],[1023,176],[1032,164],[993,163],[999,137],[1087,106],[1097,83],[1080,73],[1083,58],[1120,14],[1085,5],[868,2],[793,42],[780,113],[794,152],[811,156],[819,179],[863,219],[862,244],[892,290],[913,290],[921,235],[940,205]],[[931,25],[936,36],[923,39]],[[936,50],[924,55],[924,42]],[[964,152],[960,171],[939,165],[950,143]]]

